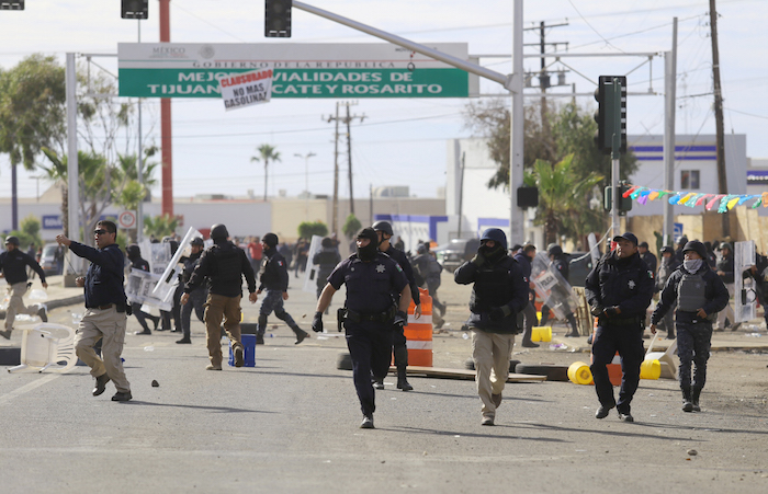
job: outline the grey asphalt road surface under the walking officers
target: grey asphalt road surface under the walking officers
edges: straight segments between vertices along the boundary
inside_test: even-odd
[[[461,367],[468,296],[447,285],[444,299],[451,331],[436,335],[436,365]],[[256,321],[258,306],[245,305]],[[314,296],[292,289],[286,308],[308,328]],[[52,322],[71,323],[71,311],[82,307],[55,309]],[[508,384],[497,425],[482,427],[473,381],[411,378],[406,393],[389,377],[376,428],[363,430],[351,372],[336,368],[343,338],[294,345],[282,323],[270,333],[255,368],[221,372],[204,370],[200,322],[192,345],[129,335],[128,403],[110,401],[112,384],[91,397],[87,367],[1,374],[0,492],[768,492],[766,417],[708,406],[707,390],[704,412],[687,414],[675,381],[643,381],[637,422],[625,424],[594,417],[592,387]],[[743,358],[765,368],[761,355]]]

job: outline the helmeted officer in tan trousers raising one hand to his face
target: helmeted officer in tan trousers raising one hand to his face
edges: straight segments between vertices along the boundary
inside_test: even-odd
[[[470,299],[472,358],[475,360],[477,394],[483,403],[482,425],[494,425],[496,409],[509,376],[518,312],[529,303],[528,278],[507,255],[507,235],[489,228],[481,237],[481,246],[472,261],[453,273],[460,285],[474,284]]]

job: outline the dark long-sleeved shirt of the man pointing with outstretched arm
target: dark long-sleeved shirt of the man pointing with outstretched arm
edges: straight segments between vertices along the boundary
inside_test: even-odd
[[[86,274],[86,307],[94,309],[109,303],[124,306],[123,260],[125,257],[120,246],[113,243],[104,249],[94,249],[90,245],[72,242],[69,250],[91,262],[88,274]]]

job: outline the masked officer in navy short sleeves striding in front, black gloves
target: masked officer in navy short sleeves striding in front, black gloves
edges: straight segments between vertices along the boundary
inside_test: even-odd
[[[373,228],[360,230],[355,241],[357,253],[339,263],[328,277],[317,301],[312,329],[323,331],[323,312],[341,285],[347,285],[346,315],[347,347],[352,358],[352,378],[363,413],[361,428],[373,428],[376,410],[375,391],[371,382],[383,379],[392,357],[392,328],[406,325],[410,305],[410,287],[403,268],[388,255],[379,251],[379,235]],[[399,294],[395,306],[392,294]]]

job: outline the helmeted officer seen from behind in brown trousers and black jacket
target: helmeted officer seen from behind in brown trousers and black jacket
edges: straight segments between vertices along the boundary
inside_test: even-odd
[[[240,342],[240,299],[242,276],[248,284],[248,300],[256,303],[256,277],[253,268],[242,249],[229,240],[227,227],[217,223],[211,227],[213,246],[200,256],[197,267],[184,285],[181,305],[190,300],[190,294],[207,279],[208,296],[205,300],[205,332],[211,364],[206,370],[222,370],[222,319],[231,342],[235,367],[242,367],[244,349]]]

